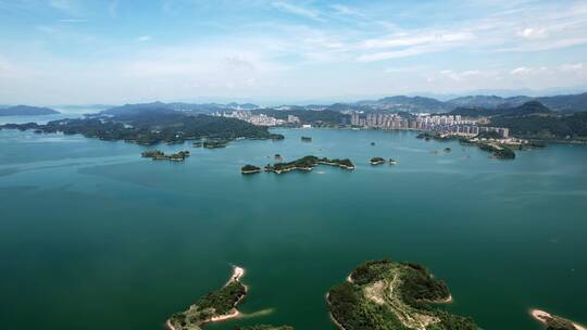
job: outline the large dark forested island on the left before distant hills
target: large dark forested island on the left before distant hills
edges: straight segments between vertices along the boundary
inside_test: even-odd
[[[88,138],[108,141],[124,140],[145,145],[183,143],[186,140],[208,138],[230,141],[247,139],[284,139],[283,135],[271,134],[266,127],[227,117],[192,115],[173,110],[146,110],[138,113],[123,113],[49,122],[7,124],[2,128],[34,129],[40,132],[80,134]]]

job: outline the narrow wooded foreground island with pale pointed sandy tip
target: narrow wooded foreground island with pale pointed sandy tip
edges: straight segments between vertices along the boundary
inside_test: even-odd
[[[168,330],[200,330],[205,323],[226,320],[239,316],[236,306],[245,299],[247,287],[240,282],[245,269],[234,267],[233,276],[220,290],[200,297],[196,304],[167,320]]]

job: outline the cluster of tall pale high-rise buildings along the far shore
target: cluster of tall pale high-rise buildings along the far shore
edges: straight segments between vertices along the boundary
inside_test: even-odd
[[[501,138],[510,136],[509,129],[503,127],[478,126],[476,120],[464,119],[460,115],[429,115],[419,114],[413,117],[402,117],[398,114],[360,113],[351,114],[351,125],[365,128],[380,129],[416,129],[439,132],[450,132],[464,136],[476,136],[484,131],[496,131]]]

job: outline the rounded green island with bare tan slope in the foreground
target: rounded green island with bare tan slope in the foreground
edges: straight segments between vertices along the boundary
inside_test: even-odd
[[[452,297],[446,283],[426,268],[389,259],[357,267],[326,296],[342,330],[476,330],[467,317],[435,306]]]

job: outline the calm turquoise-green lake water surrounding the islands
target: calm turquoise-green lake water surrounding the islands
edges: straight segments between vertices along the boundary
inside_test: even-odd
[[[171,163],[125,142],[1,130],[2,328],[162,329],[238,264],[240,309],[271,313],[210,329],[335,329],[325,292],[386,256],[426,265],[451,288],[447,308],[484,329],[540,329],[530,307],[587,323],[586,147],[497,161],[413,132],[277,131],[286,140],[160,147],[192,152]],[[357,169],[240,175],[275,153]]]

